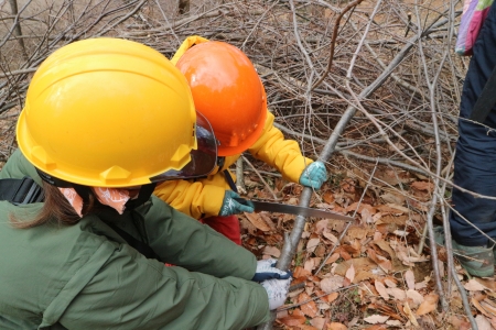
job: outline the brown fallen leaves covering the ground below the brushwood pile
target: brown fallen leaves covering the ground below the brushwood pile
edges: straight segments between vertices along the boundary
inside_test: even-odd
[[[292,261],[291,292],[278,311],[276,329],[471,328],[455,285],[448,297],[449,312],[442,312],[429,244],[418,253],[432,183],[388,168],[375,173],[369,180],[374,185],[356,170],[332,173],[314,194],[311,207],[355,216],[355,222],[346,229],[341,220],[308,219]],[[276,175],[262,177],[266,183],[246,172],[245,197],[298,205],[300,185]],[[244,246],[260,258],[279,257],[294,219],[282,213],[241,215]],[[438,251],[448,289],[446,251],[440,246]],[[457,263],[456,270],[478,329],[496,329],[494,280],[471,277]]]

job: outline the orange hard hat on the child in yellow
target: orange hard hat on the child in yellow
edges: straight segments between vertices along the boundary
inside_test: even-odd
[[[176,67],[184,74],[196,111],[211,122],[219,156],[242,153],[260,138],[267,96],[249,58],[237,47],[209,41],[187,50]]]

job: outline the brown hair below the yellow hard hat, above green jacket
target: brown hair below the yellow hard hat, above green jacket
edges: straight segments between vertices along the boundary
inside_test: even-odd
[[[43,182],[43,190],[45,193],[45,200],[41,212],[34,219],[28,221],[25,219],[21,220],[14,215],[10,215],[10,223],[14,228],[33,228],[48,221],[57,221],[58,224],[69,226],[79,222],[80,217],[57,187]],[[93,210],[94,201],[95,197],[91,191],[91,194],[89,194],[89,202],[83,206],[83,216]]]

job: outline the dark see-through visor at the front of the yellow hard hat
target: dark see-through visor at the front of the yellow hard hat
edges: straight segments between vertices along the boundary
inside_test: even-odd
[[[208,120],[196,112],[197,148],[192,150],[191,161],[181,169],[170,169],[150,178],[152,183],[206,177],[217,166],[217,139]]]

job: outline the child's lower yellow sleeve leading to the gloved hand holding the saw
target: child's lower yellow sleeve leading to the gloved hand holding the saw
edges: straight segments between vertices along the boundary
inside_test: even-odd
[[[153,194],[174,209],[201,219],[218,216],[226,189],[202,182],[171,180],[158,185]]]

